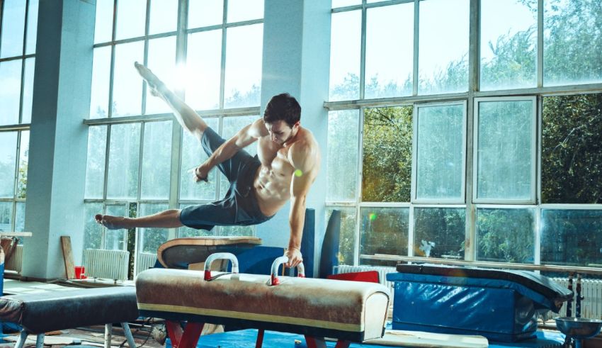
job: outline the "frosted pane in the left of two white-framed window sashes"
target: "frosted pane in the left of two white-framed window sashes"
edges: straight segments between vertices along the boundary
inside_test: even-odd
[[[464,197],[464,106],[419,106],[416,199]]]

